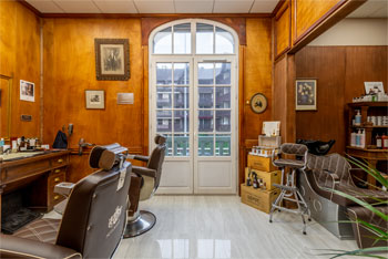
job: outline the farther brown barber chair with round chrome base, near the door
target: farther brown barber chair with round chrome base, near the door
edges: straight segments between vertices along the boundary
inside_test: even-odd
[[[153,228],[156,222],[155,215],[146,210],[139,210],[139,201],[150,199],[159,187],[166,149],[165,142],[165,136],[156,135],[156,147],[152,151],[151,156],[135,155],[131,157],[136,160],[146,162],[146,167],[132,167],[132,173],[135,174],[132,180],[140,180],[140,188],[134,187],[134,185],[131,185],[130,188],[131,207],[134,207],[135,211],[129,211],[124,238],[142,235]]]

